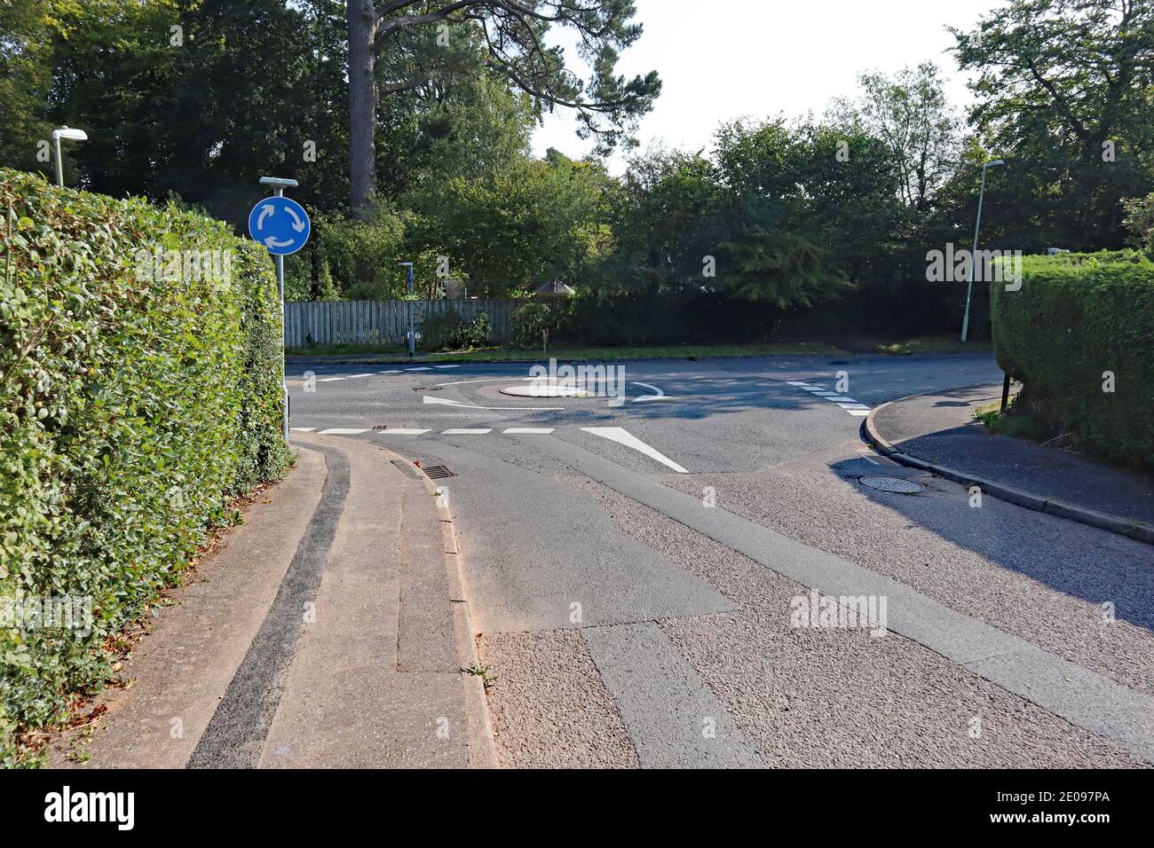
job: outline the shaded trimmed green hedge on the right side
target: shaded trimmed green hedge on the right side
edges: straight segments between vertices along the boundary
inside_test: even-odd
[[[990,299],[998,365],[1050,429],[1154,470],[1154,263],[1137,252],[1027,256],[1021,290],[991,284]]]

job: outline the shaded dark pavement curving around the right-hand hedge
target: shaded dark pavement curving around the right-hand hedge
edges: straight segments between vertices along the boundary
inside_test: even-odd
[[[1134,534],[1134,525],[1154,532],[1154,479],[991,433],[974,410],[1001,397],[1001,384],[915,395],[878,406],[867,419],[867,434],[899,461],[913,458],[921,467],[934,466],[930,471],[989,483],[990,494],[1021,505],[1115,532]]]

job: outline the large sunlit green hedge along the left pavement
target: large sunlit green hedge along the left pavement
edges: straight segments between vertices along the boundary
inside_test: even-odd
[[[283,475],[290,455],[264,249],[202,215],[8,170],[0,215],[0,765],[10,766],[29,761],[14,730],[52,725],[69,693],[98,688],[114,636],[180,579],[208,527],[232,520],[228,503]],[[15,610],[37,598],[89,599],[91,632],[21,626]]]

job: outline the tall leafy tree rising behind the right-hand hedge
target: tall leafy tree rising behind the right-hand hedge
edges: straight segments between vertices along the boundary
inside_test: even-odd
[[[1154,188],[1154,3],[1013,0],[953,35],[979,72],[971,122],[1010,166],[991,200],[1012,239],[1121,246],[1121,198]]]

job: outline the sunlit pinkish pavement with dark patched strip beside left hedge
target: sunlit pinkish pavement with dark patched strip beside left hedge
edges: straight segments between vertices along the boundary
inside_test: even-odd
[[[293,444],[54,765],[69,746],[91,767],[496,764],[448,505],[379,445]]]

